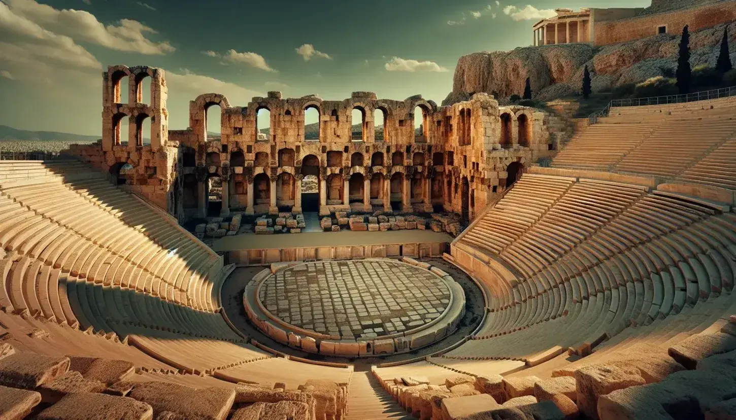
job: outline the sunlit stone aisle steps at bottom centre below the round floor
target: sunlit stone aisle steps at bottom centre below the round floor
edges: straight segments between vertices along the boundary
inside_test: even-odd
[[[350,377],[347,407],[346,420],[414,419],[368,371],[356,371]]]

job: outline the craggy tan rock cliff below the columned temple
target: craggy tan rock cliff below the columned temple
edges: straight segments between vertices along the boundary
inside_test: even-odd
[[[736,58],[736,22],[729,26],[732,60]],[[690,36],[691,65],[715,66],[726,25],[694,32]],[[672,77],[677,67],[679,35],[657,35],[603,48],[574,43],[559,46],[517,48],[513,51],[476,52],[460,57],[453,91],[443,105],[466,100],[472,93],[486,92],[508,98],[524,92],[531,79],[534,99],[548,101],[576,96],[588,65],[593,92],[609,92],[629,83],[656,76]]]

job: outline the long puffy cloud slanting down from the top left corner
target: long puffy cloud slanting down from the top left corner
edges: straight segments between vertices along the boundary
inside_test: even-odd
[[[158,32],[131,19],[122,19],[117,26],[105,26],[94,15],[84,10],[57,10],[46,4],[38,4],[35,0],[4,0],[4,2],[10,6],[10,13],[74,40],[84,40],[117,51],[149,55],[166,54],[175,50],[168,41],[156,42],[146,38]]]

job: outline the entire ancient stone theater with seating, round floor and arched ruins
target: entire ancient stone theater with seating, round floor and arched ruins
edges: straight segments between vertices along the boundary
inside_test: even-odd
[[[0,419],[736,418],[735,88],[167,94],[0,160]]]

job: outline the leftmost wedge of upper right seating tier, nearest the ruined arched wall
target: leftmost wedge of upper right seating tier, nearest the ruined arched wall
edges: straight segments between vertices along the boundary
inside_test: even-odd
[[[608,170],[651,136],[659,124],[595,124],[570,143],[552,161],[552,166]]]

